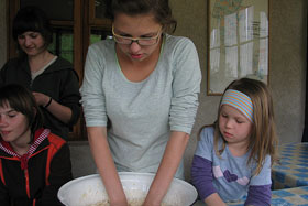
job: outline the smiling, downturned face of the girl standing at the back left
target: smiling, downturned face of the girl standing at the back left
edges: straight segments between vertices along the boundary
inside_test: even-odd
[[[24,32],[18,36],[18,42],[28,56],[36,56],[46,50],[44,37],[38,32]]]

